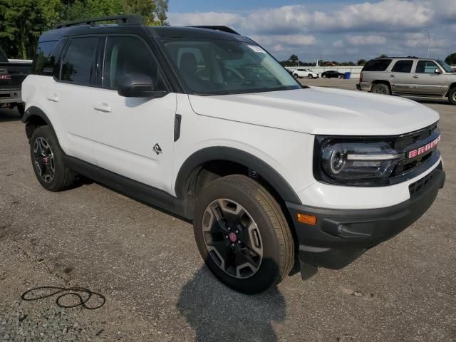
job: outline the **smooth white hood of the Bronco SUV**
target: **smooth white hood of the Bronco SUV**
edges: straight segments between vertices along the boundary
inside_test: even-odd
[[[314,135],[400,135],[439,120],[413,100],[334,88],[189,99],[199,115]]]

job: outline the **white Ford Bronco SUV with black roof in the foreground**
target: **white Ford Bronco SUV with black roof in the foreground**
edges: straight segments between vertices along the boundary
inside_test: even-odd
[[[435,111],[303,88],[221,26],[59,25],[23,98],[43,187],[84,175],[192,220],[209,269],[249,294],[295,263],[303,279],[341,269],[418,219],[445,180]]]

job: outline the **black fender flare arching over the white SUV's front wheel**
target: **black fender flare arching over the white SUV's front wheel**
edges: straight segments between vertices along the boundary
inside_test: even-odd
[[[301,199],[296,195],[293,188],[291,188],[288,182],[284,180],[284,177],[274,170],[273,167],[248,152],[233,147],[222,146],[203,148],[202,150],[193,153],[185,160],[176,177],[175,193],[177,198],[187,198],[187,189],[190,185],[190,178],[192,177],[193,172],[195,172],[200,165],[212,160],[237,162],[244,167],[255,170],[271,185],[271,187],[274,188],[274,190],[276,190],[284,201],[301,204]]]

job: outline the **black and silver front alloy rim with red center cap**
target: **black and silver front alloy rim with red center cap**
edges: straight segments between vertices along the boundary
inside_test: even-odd
[[[204,211],[202,230],[210,257],[225,273],[237,279],[257,273],[263,259],[261,234],[241,204],[216,199]]]

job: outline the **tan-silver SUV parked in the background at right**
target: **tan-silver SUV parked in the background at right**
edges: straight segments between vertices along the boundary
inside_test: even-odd
[[[386,95],[448,97],[456,105],[456,72],[432,58],[372,59],[361,71],[356,88]]]

